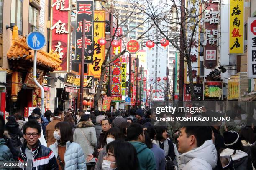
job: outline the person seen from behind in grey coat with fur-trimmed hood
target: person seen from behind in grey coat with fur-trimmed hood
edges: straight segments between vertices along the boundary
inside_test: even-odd
[[[97,137],[95,126],[90,118],[90,113],[85,113],[81,117],[80,122],[77,124],[77,128],[74,130],[73,138],[74,142],[82,147],[85,156],[94,152],[94,147],[97,146]],[[86,161],[87,169],[90,170],[90,168],[95,165],[95,162],[95,158]]]

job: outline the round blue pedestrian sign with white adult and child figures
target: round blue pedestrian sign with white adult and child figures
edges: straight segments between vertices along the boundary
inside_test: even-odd
[[[27,36],[27,45],[32,50],[41,50],[46,43],[45,37],[41,32],[33,31]]]

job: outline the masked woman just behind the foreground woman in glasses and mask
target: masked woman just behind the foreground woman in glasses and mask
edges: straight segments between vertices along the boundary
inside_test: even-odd
[[[102,169],[102,162],[103,162],[103,157],[104,155],[107,153],[107,145],[110,143],[110,142],[113,142],[114,140],[118,140],[120,139],[120,136],[121,136],[121,132],[118,128],[110,128],[106,134],[105,134],[105,137],[104,137],[104,141],[105,141],[105,146],[103,147],[103,150],[100,151],[100,154],[98,156],[98,160],[97,160],[97,163],[95,165],[95,169],[94,170],[103,170]]]

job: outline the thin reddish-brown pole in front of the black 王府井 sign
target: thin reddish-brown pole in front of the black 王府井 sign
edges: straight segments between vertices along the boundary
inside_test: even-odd
[[[82,57],[81,57],[81,70],[80,70],[80,104],[79,110],[84,110],[83,108],[83,100],[84,100],[84,39],[85,39],[85,22],[86,20],[83,19],[83,26],[82,26]]]

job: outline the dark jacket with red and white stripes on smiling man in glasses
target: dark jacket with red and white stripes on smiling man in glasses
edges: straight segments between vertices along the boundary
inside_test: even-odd
[[[20,148],[21,153],[18,157],[20,163],[25,163],[27,161],[27,157],[25,154],[25,149],[27,146],[27,142],[25,141]],[[47,148],[41,145],[38,140],[38,146],[34,151],[33,163],[31,165],[31,170],[58,170],[59,166],[56,161],[56,157],[54,156],[53,151],[50,148]],[[20,167],[20,169],[26,170],[26,166]]]

